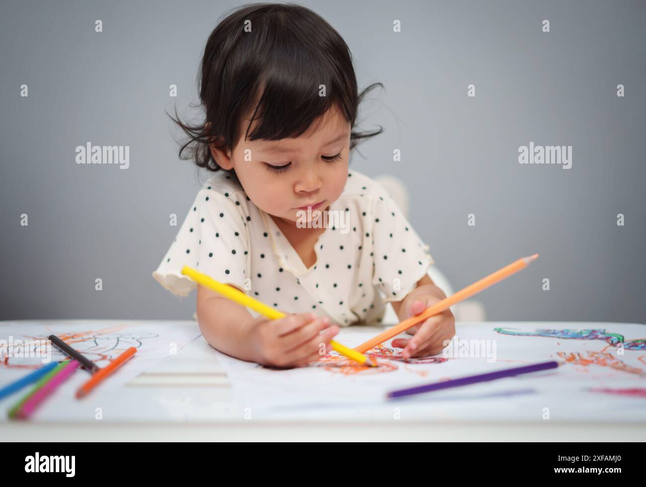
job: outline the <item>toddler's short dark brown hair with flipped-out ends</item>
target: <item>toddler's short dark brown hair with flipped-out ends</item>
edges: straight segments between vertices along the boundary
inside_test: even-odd
[[[247,32],[251,29],[251,32]],[[331,107],[355,127],[357,109],[373,83],[357,91],[352,55],[343,38],[309,8],[293,4],[255,3],[233,9],[207,40],[198,85],[205,120],[177,123],[189,136],[180,149],[183,160],[222,170],[213,160],[209,141],[233,150],[240,140],[243,117],[258,125],[245,140],[280,140],[304,134]],[[325,85],[326,96],[318,96]],[[169,115],[170,116],[170,115]],[[382,132],[351,132],[350,149]],[[185,150],[189,155],[183,155]],[[234,171],[231,169],[231,171]]]

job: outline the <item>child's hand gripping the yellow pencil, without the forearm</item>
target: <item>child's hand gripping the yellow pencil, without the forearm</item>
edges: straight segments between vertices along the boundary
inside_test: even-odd
[[[249,338],[255,362],[291,368],[306,366],[329,353],[332,350],[329,342],[337,333],[339,327],[330,326],[328,316],[298,313],[278,320],[259,316],[251,327]]]

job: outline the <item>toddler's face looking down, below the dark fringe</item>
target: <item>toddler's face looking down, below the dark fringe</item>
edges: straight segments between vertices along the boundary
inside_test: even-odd
[[[309,130],[298,138],[244,140],[248,124],[249,119],[243,123],[242,137],[233,154],[213,146],[211,152],[222,168],[235,169],[247,196],[258,208],[294,225],[300,207],[324,202],[312,208],[312,212],[323,211],[339,198],[348,179],[351,127],[338,110],[328,110],[316,132]],[[272,148],[281,150],[270,152]],[[326,160],[337,154],[337,160]]]

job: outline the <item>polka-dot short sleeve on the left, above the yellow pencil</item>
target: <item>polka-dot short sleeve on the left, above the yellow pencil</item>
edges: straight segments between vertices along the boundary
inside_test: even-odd
[[[186,296],[197,287],[182,275],[182,267],[188,265],[244,290],[248,263],[249,236],[242,207],[233,197],[202,189],[152,276],[174,295]]]

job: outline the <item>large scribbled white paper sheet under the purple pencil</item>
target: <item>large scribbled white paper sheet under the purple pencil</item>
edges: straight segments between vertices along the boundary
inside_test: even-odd
[[[529,398],[536,418],[543,412],[543,404],[548,408],[545,414],[549,414],[552,406],[567,411],[569,419],[576,417],[579,410],[582,418],[588,415],[597,419],[646,420],[646,398],[640,395],[646,392],[646,344],[643,342],[646,326],[586,323],[585,327],[569,332],[563,330],[571,329],[571,323],[541,327],[552,331],[537,331],[535,323],[503,324],[503,329],[499,330],[495,327],[499,326],[489,323],[458,326],[457,335],[447,350],[450,352],[448,357],[440,354],[426,360],[409,361],[413,363],[401,361],[401,357],[398,358],[401,349],[391,347],[389,340],[385,349],[369,353],[378,357],[380,367],[377,370],[355,366],[335,352],[316,365],[288,370],[264,368],[216,350],[213,353],[227,371],[240,405],[250,413],[256,411],[264,415],[271,410],[273,413],[283,411],[286,417],[311,417],[307,408],[315,408],[318,414],[322,408],[328,408],[333,414],[330,406],[356,406],[365,413],[368,404],[385,406],[387,411],[397,406],[437,404],[463,398],[460,406],[477,411],[476,415],[483,417],[487,416],[486,409],[496,407],[494,404],[498,400],[522,404]],[[335,340],[354,347],[379,331],[374,327],[344,328]],[[636,340],[640,338],[641,342]],[[470,356],[461,356],[470,347]],[[557,360],[563,365],[410,399],[385,399],[386,393],[393,389],[547,360]],[[590,398],[594,404],[590,404]],[[618,405],[621,405],[619,409]],[[489,412],[500,415],[499,409]]]

